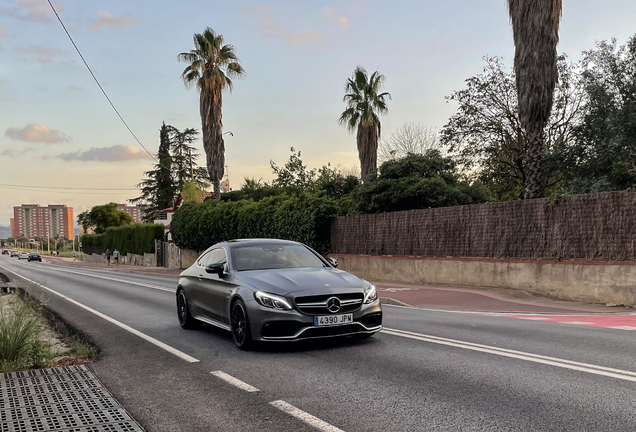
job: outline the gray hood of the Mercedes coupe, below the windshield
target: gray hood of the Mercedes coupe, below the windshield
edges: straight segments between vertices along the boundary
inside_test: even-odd
[[[368,282],[357,276],[334,268],[298,268],[276,270],[250,270],[236,272],[234,277],[258,290],[272,294],[303,293],[312,295],[359,291]]]

